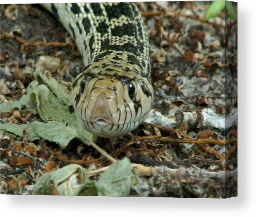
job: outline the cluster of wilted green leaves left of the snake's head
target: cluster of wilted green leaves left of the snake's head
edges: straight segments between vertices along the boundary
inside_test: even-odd
[[[26,104],[29,105],[26,109],[36,111],[44,122],[34,121],[26,125],[3,123],[1,129],[22,136],[22,130],[26,128],[29,131],[31,142],[42,138],[56,142],[62,149],[66,148],[69,142],[75,138],[89,145],[92,134],[83,129],[74,112],[69,113],[71,101],[67,97],[69,93],[65,86],[54,78],[45,77],[40,72],[36,72],[36,78],[37,82],[34,81],[26,95],[16,103],[8,105],[8,110],[11,111],[17,104],[22,105],[23,100],[26,99]],[[8,102],[4,102],[2,105],[5,106],[5,103]]]

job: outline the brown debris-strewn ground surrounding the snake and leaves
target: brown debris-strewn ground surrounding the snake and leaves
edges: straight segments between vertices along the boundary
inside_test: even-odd
[[[137,3],[150,38],[154,108],[162,114],[210,108],[216,114],[228,115],[237,108],[237,23],[225,20],[224,12],[214,20],[204,20],[208,5],[209,2]],[[53,44],[46,46],[50,42]],[[62,25],[40,5],[1,5],[1,103],[18,100],[26,92],[42,55],[60,63],[49,66],[47,76],[70,90],[83,63]],[[1,112],[1,123],[33,120],[42,121],[39,115],[22,109]],[[176,130],[194,139],[237,138],[237,126],[228,131],[191,129],[182,122]],[[237,195],[237,143],[222,146],[148,139],[127,146],[134,138],[157,133],[180,137],[178,133],[142,124],[132,134],[97,139],[97,144],[114,158],[128,157],[132,163],[155,169],[153,174],[139,175],[130,196]],[[110,164],[98,151],[78,140],[72,140],[62,150],[52,142],[32,143],[26,136],[1,131],[1,194],[32,194],[43,173],[73,160],[80,160],[89,169]]]

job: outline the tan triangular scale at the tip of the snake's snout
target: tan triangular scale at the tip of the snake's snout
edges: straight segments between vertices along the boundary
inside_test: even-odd
[[[97,122],[101,125],[107,125],[113,123],[113,117],[109,110],[108,98],[105,92],[101,92],[94,104],[93,110],[90,116],[91,122]]]

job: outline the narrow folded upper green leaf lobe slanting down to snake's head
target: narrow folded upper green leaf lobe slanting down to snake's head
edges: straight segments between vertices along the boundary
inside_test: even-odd
[[[64,103],[65,105],[71,105],[71,97],[68,94],[68,89],[66,86],[57,82],[54,78],[47,78],[42,73],[37,71],[35,76],[40,84],[46,85],[54,95],[58,97],[60,102]]]

